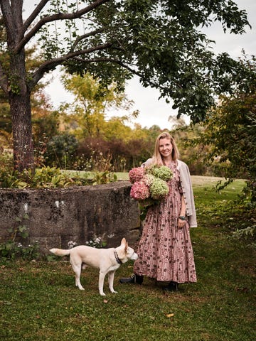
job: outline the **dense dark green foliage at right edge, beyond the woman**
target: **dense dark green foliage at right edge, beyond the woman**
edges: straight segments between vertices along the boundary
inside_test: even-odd
[[[256,58],[240,60],[250,70],[256,70]],[[200,142],[210,146],[206,158],[223,168],[229,182],[247,179],[252,201],[256,200],[256,78],[243,80],[246,92],[239,87],[232,97],[220,97],[218,108],[209,113]]]

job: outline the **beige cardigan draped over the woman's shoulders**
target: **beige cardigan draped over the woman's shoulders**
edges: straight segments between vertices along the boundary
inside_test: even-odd
[[[153,158],[149,158],[146,162],[142,163],[142,167],[150,166]],[[188,217],[188,224],[190,227],[197,227],[196,222],[196,208],[193,197],[193,188],[191,183],[191,175],[188,166],[185,162],[178,160],[178,171],[180,172],[181,188],[186,205],[186,215]]]

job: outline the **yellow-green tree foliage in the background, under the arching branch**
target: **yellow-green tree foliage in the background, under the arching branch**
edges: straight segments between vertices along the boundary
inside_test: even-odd
[[[88,136],[110,139],[114,134],[122,134],[121,131],[128,129],[124,126],[124,121],[137,117],[137,112],[133,112],[131,117],[125,115],[107,120],[107,112],[111,109],[129,110],[133,104],[124,92],[117,92],[115,84],[103,89],[100,82],[87,73],[83,77],[63,76],[63,85],[65,90],[75,97],[72,104],[65,104],[62,107],[64,112],[68,113],[66,121],[70,121],[72,132],[78,139],[85,139]],[[117,128],[114,127],[114,122],[118,125]]]

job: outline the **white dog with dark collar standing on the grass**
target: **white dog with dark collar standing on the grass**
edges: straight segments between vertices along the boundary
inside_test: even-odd
[[[80,283],[81,270],[85,269],[86,266],[100,269],[99,291],[101,296],[105,296],[105,293],[103,292],[105,276],[108,274],[110,291],[112,293],[117,293],[113,288],[114,272],[121,264],[129,261],[129,259],[136,260],[138,258],[134,249],[128,247],[125,238],[122,239],[121,245],[115,249],[95,249],[94,247],[80,245],[67,250],[50,249],[50,252],[57,256],[70,255],[70,264],[72,265],[73,271],[75,271],[75,286],[78,286],[80,290],[85,290]]]

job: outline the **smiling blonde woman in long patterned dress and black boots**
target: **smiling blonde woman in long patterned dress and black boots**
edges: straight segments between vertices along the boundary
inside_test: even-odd
[[[196,269],[189,229],[196,227],[188,166],[178,160],[178,148],[167,132],[156,138],[153,158],[142,167],[152,164],[168,166],[173,178],[168,182],[169,195],[159,204],[152,205],[146,214],[142,237],[134,262],[134,274],[120,278],[120,283],[142,284],[143,276],[169,282],[166,291],[178,290],[178,283],[196,282]]]

